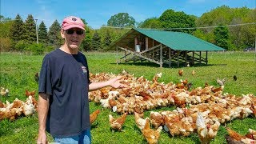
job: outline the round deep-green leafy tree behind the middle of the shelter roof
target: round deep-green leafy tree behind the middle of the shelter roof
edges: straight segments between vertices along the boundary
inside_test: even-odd
[[[174,10],[166,10],[159,17],[159,21],[162,24],[162,28],[187,28],[195,27],[195,19],[193,16],[185,14],[182,12],[175,12]],[[183,30],[172,30],[172,31],[181,31],[191,34],[194,30],[183,29]]]

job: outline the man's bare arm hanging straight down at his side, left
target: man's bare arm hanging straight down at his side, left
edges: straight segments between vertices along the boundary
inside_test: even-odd
[[[46,143],[46,118],[49,110],[49,95],[40,93],[38,97],[38,142]]]

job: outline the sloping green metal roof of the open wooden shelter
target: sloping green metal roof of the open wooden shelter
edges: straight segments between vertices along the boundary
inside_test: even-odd
[[[127,42],[124,40],[126,37],[129,37],[129,34],[141,34],[146,35],[149,38],[154,39],[162,43],[165,46],[170,47],[173,50],[190,50],[190,51],[216,51],[216,50],[225,50],[219,46],[215,46],[210,42],[206,42],[200,38],[196,38],[193,35],[181,33],[181,32],[172,32],[166,30],[146,30],[146,29],[131,29],[125,35],[122,36],[114,45],[118,43]]]

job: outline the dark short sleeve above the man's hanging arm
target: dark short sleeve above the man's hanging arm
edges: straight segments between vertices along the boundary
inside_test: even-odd
[[[50,72],[50,57],[48,55],[43,58],[42,67],[39,76],[38,93],[52,95],[52,83]]]

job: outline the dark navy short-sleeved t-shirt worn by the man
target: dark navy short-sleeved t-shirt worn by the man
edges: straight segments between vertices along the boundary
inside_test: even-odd
[[[46,130],[54,137],[74,136],[90,128],[89,83],[84,54],[60,49],[46,54],[38,92],[50,95]]]

